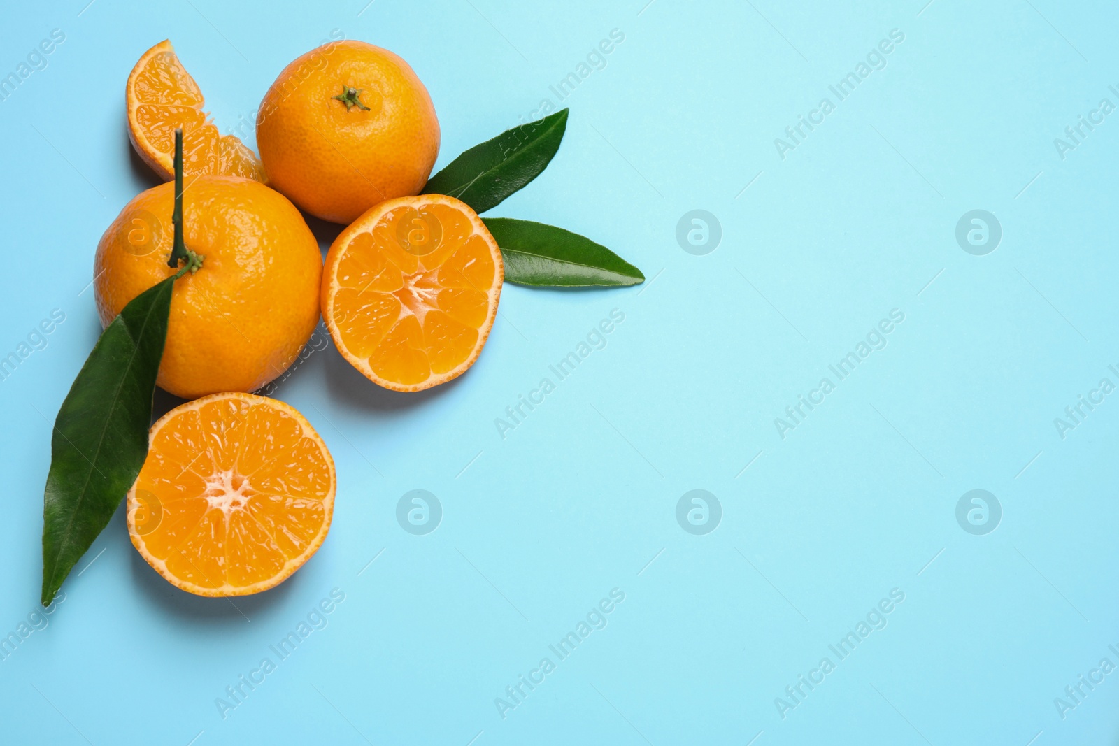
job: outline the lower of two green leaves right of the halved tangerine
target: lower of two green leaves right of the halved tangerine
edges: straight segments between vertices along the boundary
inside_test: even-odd
[[[483,221],[501,247],[507,282],[553,287],[617,287],[645,282],[636,266],[577,233],[532,220]]]

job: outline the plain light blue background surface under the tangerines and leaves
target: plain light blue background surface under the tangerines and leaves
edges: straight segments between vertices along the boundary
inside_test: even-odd
[[[333,29],[393,49],[435,102],[439,168],[560,105],[549,86],[617,29],[562,102],[551,168],[492,214],[585,234],[648,281],[507,286],[479,362],[427,394],[316,351],[276,396],[337,461],[318,555],[261,596],[196,598],[119,511],[0,661],[0,740],[1116,742],[1113,6],[86,1],[0,27],[2,74],[65,34],[0,101],[0,353],[65,314],[0,384],[0,633],[37,608],[50,422],[98,332],[94,247],[153,182],[123,107],[152,44],[172,39],[223,130]],[[792,140],[799,116],[819,123]],[[1102,123],[1073,141],[1080,116]],[[677,239],[697,209],[714,251],[688,243],[713,240],[711,218]],[[958,243],[971,210],[995,216],[994,251]],[[605,347],[553,378],[612,313]],[[502,438],[495,419],[545,377]],[[792,419],[800,396],[822,403]],[[1080,396],[1103,400],[1072,421]],[[397,521],[412,490],[436,497],[435,530]],[[692,490],[720,509],[678,510]],[[994,500],[958,511],[971,490]],[[270,645],[309,615],[281,659]],[[241,676],[263,681],[235,700]]]

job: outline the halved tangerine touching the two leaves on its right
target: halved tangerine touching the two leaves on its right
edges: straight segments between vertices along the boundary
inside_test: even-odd
[[[419,391],[478,359],[504,276],[497,242],[466,204],[442,195],[391,199],[331,245],[322,315],[366,378]]]

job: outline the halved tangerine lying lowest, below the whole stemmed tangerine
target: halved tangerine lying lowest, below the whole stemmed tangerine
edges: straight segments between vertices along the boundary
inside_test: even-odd
[[[335,463],[310,423],[253,394],[167,413],[129,491],[132,544],[168,583],[199,596],[266,591],[330,529]]]

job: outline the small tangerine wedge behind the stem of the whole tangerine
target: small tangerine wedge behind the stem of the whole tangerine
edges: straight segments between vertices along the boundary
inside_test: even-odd
[[[125,88],[129,138],[140,157],[164,181],[175,178],[175,129],[182,128],[182,172],[239,176],[265,181],[252,150],[223,135],[203,111],[203,93],[168,40],[140,57]]]

